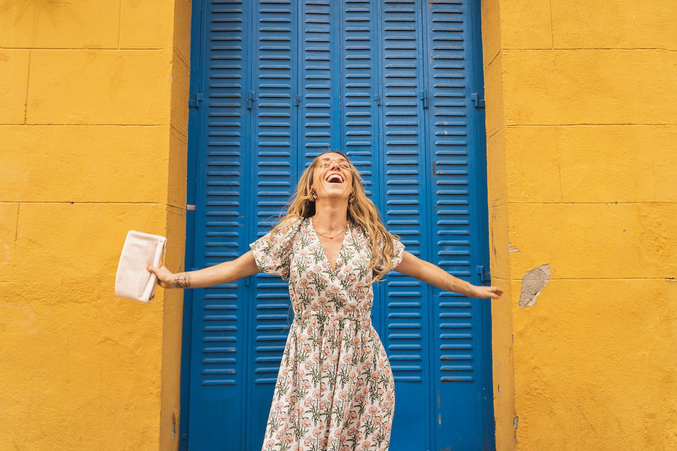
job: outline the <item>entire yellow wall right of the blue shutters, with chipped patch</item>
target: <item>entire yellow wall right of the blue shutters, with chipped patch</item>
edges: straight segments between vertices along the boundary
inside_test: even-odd
[[[677,3],[482,16],[497,449],[677,449]]]

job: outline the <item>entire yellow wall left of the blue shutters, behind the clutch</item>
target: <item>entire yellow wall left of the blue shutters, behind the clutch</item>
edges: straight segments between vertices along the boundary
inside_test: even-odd
[[[182,293],[114,277],[183,267],[190,1],[0,6],[0,449],[176,449]]]

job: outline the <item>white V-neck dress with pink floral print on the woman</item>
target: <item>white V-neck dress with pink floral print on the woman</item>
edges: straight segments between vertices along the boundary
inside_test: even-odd
[[[289,281],[294,309],[262,449],[387,450],[395,383],[370,318],[371,239],[348,224],[332,270],[311,218],[283,229],[250,244],[261,271]]]

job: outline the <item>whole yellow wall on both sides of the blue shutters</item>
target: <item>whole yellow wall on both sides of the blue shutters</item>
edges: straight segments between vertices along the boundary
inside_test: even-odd
[[[676,3],[482,14],[497,447],[677,448]],[[188,0],[0,9],[1,446],[177,447],[182,294],[112,287],[129,229],[183,268],[189,39]]]

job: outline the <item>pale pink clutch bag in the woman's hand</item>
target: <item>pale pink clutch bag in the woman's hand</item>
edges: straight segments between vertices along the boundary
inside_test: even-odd
[[[146,266],[160,266],[166,249],[165,237],[129,231],[115,276],[115,295],[150,302],[155,295],[158,278]]]

